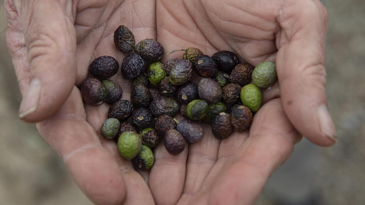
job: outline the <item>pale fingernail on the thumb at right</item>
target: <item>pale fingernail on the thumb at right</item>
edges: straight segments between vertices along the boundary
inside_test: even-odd
[[[338,142],[335,125],[332,121],[331,115],[328,112],[326,105],[320,105],[318,107],[318,120],[320,128],[324,135],[333,140],[335,143]]]

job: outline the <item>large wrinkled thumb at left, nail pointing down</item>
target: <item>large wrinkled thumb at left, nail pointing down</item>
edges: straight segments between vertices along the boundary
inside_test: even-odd
[[[11,6],[18,12],[14,21],[23,31],[26,46],[23,56],[28,60],[28,63],[17,63],[13,58],[18,80],[29,82],[20,85],[23,100],[19,117],[37,122],[50,117],[64,104],[76,81],[72,5],[58,0],[15,0]],[[9,16],[14,17],[12,12]],[[9,29],[14,25],[9,25]],[[12,38],[12,30],[7,38]]]

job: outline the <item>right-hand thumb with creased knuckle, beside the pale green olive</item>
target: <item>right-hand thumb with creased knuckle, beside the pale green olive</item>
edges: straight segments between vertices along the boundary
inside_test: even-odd
[[[318,0],[286,1],[277,19],[283,29],[276,62],[285,113],[311,142],[330,146],[337,135],[324,91],[326,9]]]

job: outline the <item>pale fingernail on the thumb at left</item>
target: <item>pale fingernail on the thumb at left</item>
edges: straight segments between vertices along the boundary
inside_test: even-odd
[[[19,118],[23,118],[37,109],[39,96],[41,96],[41,81],[33,78],[20,103]]]

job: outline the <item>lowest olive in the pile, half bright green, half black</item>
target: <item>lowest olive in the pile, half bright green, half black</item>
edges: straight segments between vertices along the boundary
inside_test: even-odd
[[[152,150],[145,146],[141,146],[141,151],[139,154],[133,159],[133,164],[135,167],[141,170],[150,170],[154,163],[154,155]]]

